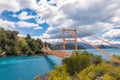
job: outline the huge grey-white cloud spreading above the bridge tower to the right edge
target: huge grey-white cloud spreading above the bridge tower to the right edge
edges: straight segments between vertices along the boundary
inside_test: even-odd
[[[115,27],[111,19],[119,16],[119,0],[51,0],[43,3],[39,6],[40,10],[37,10],[38,16],[41,16],[38,21],[50,24],[43,34],[49,35],[48,38],[58,37],[56,34],[60,34],[62,28],[103,34],[104,31]]]

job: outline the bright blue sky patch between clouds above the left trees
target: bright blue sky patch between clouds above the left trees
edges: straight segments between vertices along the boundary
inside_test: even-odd
[[[36,16],[36,12],[34,10],[31,10],[29,8],[26,8],[26,9],[22,9],[22,10],[19,10],[19,11],[16,11],[15,13],[12,12],[12,11],[3,11],[0,15],[0,18],[2,20],[7,20],[7,21],[11,21],[11,22],[19,22],[21,21],[18,17],[13,17],[13,15],[20,15],[22,12],[27,12],[27,15],[32,15],[32,16]],[[36,20],[34,18],[30,18],[30,19],[26,19],[26,20],[23,20],[25,22],[28,22],[28,23],[34,23],[34,24],[37,24]],[[39,36],[41,35],[42,33],[44,33],[47,28],[49,27],[49,24],[47,24],[46,22],[43,22],[41,24],[38,24],[40,27],[44,27],[42,30],[41,29],[36,29],[34,30],[32,27],[30,28],[21,28],[21,27],[17,27],[15,28],[15,30],[19,31],[20,34],[23,34],[23,35],[26,35],[26,34],[30,34],[31,36]]]

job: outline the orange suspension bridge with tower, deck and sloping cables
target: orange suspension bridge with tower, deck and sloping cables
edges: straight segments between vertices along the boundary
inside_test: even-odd
[[[115,45],[115,44],[113,44],[113,43],[111,43],[111,42],[109,42],[109,41],[105,41],[105,40],[103,40],[103,39],[101,39],[101,38],[99,38],[99,37],[97,37],[97,36],[94,36],[94,35],[92,35],[92,34],[89,34],[89,33],[87,33],[87,32],[83,32],[83,31],[80,31],[80,32],[81,32],[82,34],[89,35],[89,36],[91,36],[91,37],[93,37],[93,38],[95,38],[95,39],[97,39],[97,40],[102,41],[102,42],[105,42],[105,43],[107,43],[107,44],[109,44],[109,45],[112,45],[112,46],[115,47],[115,48],[120,48],[120,46]],[[66,36],[66,35],[67,35],[67,36]],[[70,39],[69,36],[71,36],[72,39]],[[115,57],[114,57],[113,55],[111,55],[110,53],[108,53],[108,52],[104,51],[103,49],[101,49],[101,48],[99,48],[99,47],[97,47],[97,46],[89,43],[89,41],[81,38],[80,36],[77,36],[77,30],[76,30],[76,29],[64,29],[64,28],[62,29],[62,40],[63,40],[63,45],[62,45],[63,50],[62,50],[62,51],[60,51],[60,50],[59,50],[59,51],[58,51],[58,50],[52,50],[52,49],[50,49],[50,48],[48,47],[48,45],[43,45],[42,51],[43,51],[44,53],[47,53],[47,54],[50,54],[50,55],[55,55],[55,56],[58,56],[58,57],[60,57],[60,58],[62,58],[62,59],[65,59],[66,57],[69,57],[70,55],[72,55],[72,53],[66,52],[66,46],[65,46],[66,43],[67,43],[67,42],[75,42],[75,51],[77,51],[77,50],[78,50],[78,48],[77,48],[78,39],[81,40],[82,42],[84,42],[85,44],[93,47],[93,48],[96,49],[97,51],[101,52],[101,54],[106,55],[107,57],[109,57],[109,58],[110,58],[111,60],[113,60],[114,62],[120,63],[120,60],[117,59],[117,58],[115,58]]]

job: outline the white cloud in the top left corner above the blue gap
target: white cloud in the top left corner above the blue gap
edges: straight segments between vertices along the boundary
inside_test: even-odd
[[[5,10],[16,12],[25,8],[37,10],[36,0],[0,0],[0,13]]]

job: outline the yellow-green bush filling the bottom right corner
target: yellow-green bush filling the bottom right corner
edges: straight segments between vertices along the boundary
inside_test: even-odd
[[[80,80],[95,80],[98,78],[101,78],[101,80],[120,80],[120,67],[113,67],[107,63],[92,64],[79,72],[77,76]]]

